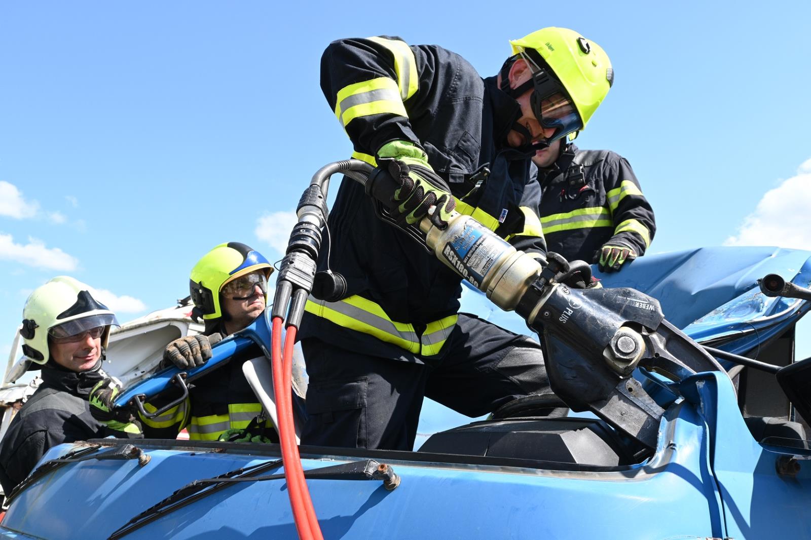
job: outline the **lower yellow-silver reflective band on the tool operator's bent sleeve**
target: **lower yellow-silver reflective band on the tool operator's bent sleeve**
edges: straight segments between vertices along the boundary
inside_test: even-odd
[[[338,92],[335,116],[341,126],[346,127],[354,118],[382,113],[408,117],[397,83],[388,77],[350,84]]]

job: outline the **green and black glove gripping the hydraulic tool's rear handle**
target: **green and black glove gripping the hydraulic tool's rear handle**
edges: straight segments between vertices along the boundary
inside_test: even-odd
[[[378,168],[388,172],[400,186],[393,196],[393,203],[397,205],[393,214],[397,220],[412,225],[427,215],[428,208],[435,206],[431,221],[444,229],[456,201],[448,183],[428,165],[423,149],[395,140],[380,147],[377,156]]]

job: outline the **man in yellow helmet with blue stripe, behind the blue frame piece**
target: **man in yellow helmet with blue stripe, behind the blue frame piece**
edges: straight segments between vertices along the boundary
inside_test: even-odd
[[[189,290],[194,302],[192,316],[204,320],[202,334],[172,341],[164,351],[164,364],[182,370],[201,366],[212,357],[211,345],[246,328],[262,315],[268,294],[272,265],[259,251],[239,242],[214,247],[191,269]],[[126,420],[127,410],[112,408],[120,388],[105,380],[92,391],[94,414],[105,421]],[[170,401],[172,396],[165,398]],[[154,412],[161,401],[145,405]],[[272,422],[264,418],[262,405],[242,375],[242,362],[195,379],[185,403],[157,418],[138,418],[144,435],[150,438],[177,437],[186,428],[191,440],[272,442],[277,435]],[[268,429],[269,428],[269,429]]]

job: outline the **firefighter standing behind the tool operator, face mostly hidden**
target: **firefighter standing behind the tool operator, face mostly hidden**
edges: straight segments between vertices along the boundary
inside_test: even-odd
[[[539,216],[549,251],[616,272],[645,255],[656,222],[628,160],[560,139],[537,152]]]

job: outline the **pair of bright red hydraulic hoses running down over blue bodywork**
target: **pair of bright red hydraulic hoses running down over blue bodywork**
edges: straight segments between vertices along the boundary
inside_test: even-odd
[[[279,425],[281,458],[285,464],[285,480],[290,497],[290,508],[301,540],[323,540],[315,509],[312,507],[310,492],[304,480],[304,470],[298,456],[293,420],[293,398],[290,379],[292,377],[292,354],[295,328],[288,328],[285,340],[285,355],[281,351],[281,317],[273,317],[271,333],[271,357],[273,372],[273,392],[276,394],[276,411]],[[288,373],[285,374],[285,371]],[[286,383],[285,383],[286,381]]]

